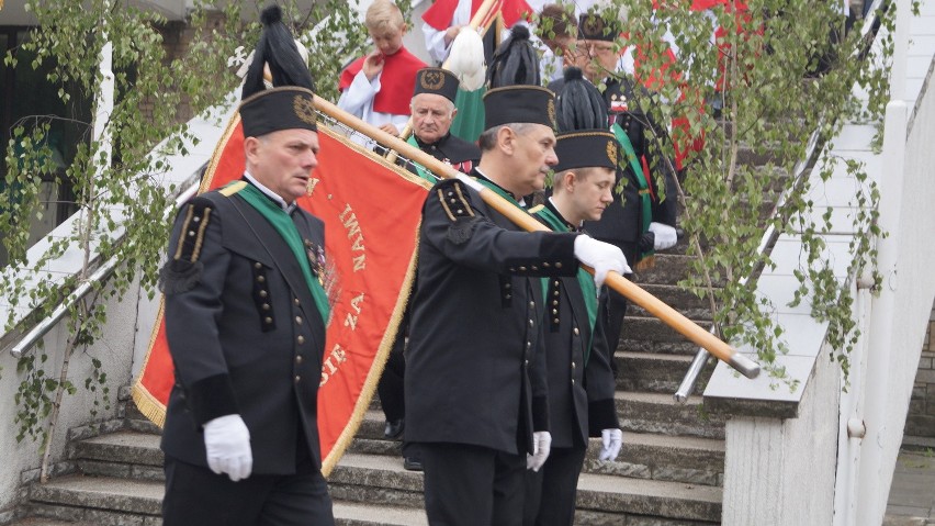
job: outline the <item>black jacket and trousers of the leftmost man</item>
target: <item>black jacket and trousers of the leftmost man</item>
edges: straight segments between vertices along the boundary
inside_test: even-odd
[[[233,189],[182,208],[160,276],[176,369],[164,524],[334,524],[316,422],[325,324],[289,246]],[[291,215],[319,271],[324,224]],[[205,454],[204,424],[228,414],[250,433],[252,472],[238,482]]]

